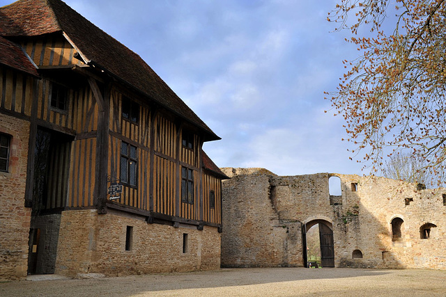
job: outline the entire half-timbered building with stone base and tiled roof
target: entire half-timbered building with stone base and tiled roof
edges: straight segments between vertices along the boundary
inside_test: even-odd
[[[219,268],[218,139],[66,3],[0,8],[0,278]]]

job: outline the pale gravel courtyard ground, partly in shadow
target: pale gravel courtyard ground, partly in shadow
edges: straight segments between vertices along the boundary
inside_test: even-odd
[[[0,283],[0,296],[446,296],[446,271],[231,268]]]

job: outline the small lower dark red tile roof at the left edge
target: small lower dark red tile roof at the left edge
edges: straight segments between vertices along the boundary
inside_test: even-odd
[[[39,76],[36,67],[14,42],[0,37],[0,53],[0,64],[13,67],[16,70],[26,72],[35,77]]]

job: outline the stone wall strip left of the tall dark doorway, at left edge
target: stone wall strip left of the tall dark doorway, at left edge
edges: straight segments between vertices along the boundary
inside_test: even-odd
[[[0,133],[8,134],[10,164],[0,172],[0,279],[26,277],[31,209],[24,207],[29,122],[2,114]]]

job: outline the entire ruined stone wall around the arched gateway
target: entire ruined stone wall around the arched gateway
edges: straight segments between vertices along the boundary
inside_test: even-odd
[[[446,269],[445,189],[417,190],[383,177],[223,171],[232,178],[222,189],[222,266],[302,266],[302,229],[323,222],[332,228],[335,266]],[[330,195],[333,176],[341,195]],[[395,217],[404,221],[399,239],[392,239]],[[436,227],[421,239],[426,223]]]

